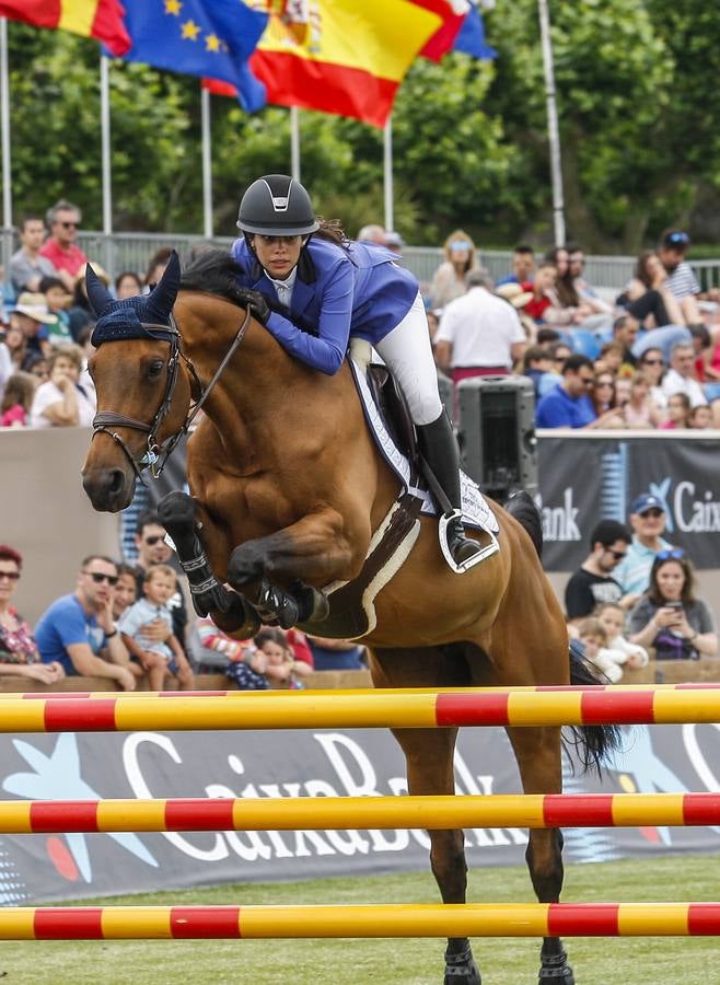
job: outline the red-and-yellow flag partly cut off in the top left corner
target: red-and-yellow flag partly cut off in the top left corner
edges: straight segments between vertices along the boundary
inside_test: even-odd
[[[71,31],[103,42],[112,55],[124,55],[130,37],[119,0],[2,0],[0,16],[34,27]]]

